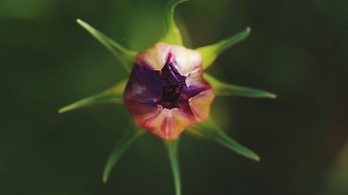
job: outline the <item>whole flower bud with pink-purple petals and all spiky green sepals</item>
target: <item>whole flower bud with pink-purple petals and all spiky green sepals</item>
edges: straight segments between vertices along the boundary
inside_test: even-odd
[[[121,80],[109,90],[90,96],[60,110],[59,113],[100,103],[124,103],[134,117],[132,126],[120,138],[104,167],[102,179],[109,178],[113,166],[122,153],[148,130],[164,139],[173,171],[176,195],[181,194],[178,160],[178,140],[184,130],[211,137],[226,148],[251,160],[260,160],[257,154],[226,135],[209,117],[215,96],[246,96],[276,98],[275,94],[250,87],[224,83],[210,76],[205,69],[230,46],[241,42],[251,28],[198,49],[183,46],[182,37],[174,21],[174,9],[183,1],[170,0],[164,14],[166,31],[159,42],[143,52],[130,51],[100,33],[86,22],[77,22],[93,35],[113,56],[118,58],[129,79]],[[145,130],[143,130],[145,129]]]

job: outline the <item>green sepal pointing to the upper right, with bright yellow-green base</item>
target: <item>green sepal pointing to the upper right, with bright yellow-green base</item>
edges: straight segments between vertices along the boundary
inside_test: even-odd
[[[250,33],[251,33],[251,28],[248,27],[241,33],[238,33],[237,35],[232,35],[231,37],[228,37],[225,40],[221,40],[220,42],[217,42],[216,44],[203,46],[196,49],[202,55],[203,68],[207,69],[208,67],[210,67],[214,63],[216,58],[219,57],[219,55],[223,51],[230,48],[230,46],[232,45],[242,42],[242,40],[246,39],[246,37],[248,37]]]

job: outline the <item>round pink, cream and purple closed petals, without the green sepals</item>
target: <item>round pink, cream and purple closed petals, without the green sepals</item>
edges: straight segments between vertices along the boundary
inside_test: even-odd
[[[157,43],[136,56],[123,102],[138,126],[177,139],[209,117],[214,96],[198,51]]]

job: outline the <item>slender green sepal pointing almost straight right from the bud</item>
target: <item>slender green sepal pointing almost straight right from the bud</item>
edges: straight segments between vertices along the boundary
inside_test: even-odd
[[[205,80],[212,85],[212,88],[216,94],[216,96],[244,96],[249,98],[277,98],[276,94],[272,94],[271,92],[267,92],[264,90],[257,90],[251,87],[242,87],[239,85],[233,85],[229,83],[224,83],[217,78],[205,73]]]

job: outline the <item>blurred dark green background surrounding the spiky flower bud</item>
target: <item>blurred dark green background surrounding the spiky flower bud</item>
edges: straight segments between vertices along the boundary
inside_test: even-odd
[[[126,72],[75,19],[141,51],[163,33],[165,0],[0,0],[0,194],[174,194],[161,140],[147,134],[107,185],[104,163],[129,114],[63,105]],[[278,99],[217,98],[213,118],[259,163],[184,133],[183,194],[348,194],[348,1],[191,0],[177,8],[196,48],[253,29],[209,68]]]

